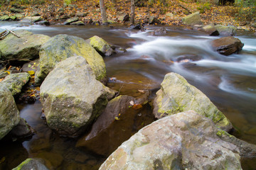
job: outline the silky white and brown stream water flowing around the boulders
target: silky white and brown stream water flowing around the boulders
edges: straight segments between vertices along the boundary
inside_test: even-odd
[[[105,57],[109,82],[120,94],[139,96],[138,90],[159,89],[164,75],[176,72],[185,77],[210,98],[238,129],[237,137],[256,144],[256,35],[238,33],[245,46],[239,54],[219,55],[210,47],[210,37],[197,30],[166,27],[168,34],[152,36],[156,27],[146,32],[129,30],[124,26],[26,26],[2,22],[1,29],[26,29],[45,35],[68,34],[80,38],[98,35],[113,45],[127,49]],[[11,169],[27,157],[48,159],[58,169],[97,169],[105,157],[75,147],[76,140],[59,137],[41,120],[41,104],[20,106],[21,117],[36,130],[26,142],[0,146],[5,157],[5,169]],[[150,112],[150,111],[148,111]],[[150,113],[149,113],[150,114]],[[250,165],[251,164],[251,165]],[[244,169],[256,166],[243,163]],[[0,164],[1,169],[1,164]],[[253,169],[253,168],[252,168]]]

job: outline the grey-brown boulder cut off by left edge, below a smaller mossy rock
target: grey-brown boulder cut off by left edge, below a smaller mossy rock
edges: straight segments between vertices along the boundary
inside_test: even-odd
[[[11,91],[0,83],[0,140],[7,135],[14,126],[18,125],[20,115]]]

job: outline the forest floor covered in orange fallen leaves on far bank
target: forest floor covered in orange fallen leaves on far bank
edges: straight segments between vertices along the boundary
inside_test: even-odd
[[[112,1],[105,0],[107,18],[110,21],[122,23],[122,21],[118,21],[118,18],[126,13],[130,13],[130,1],[116,1],[117,3],[113,4]],[[58,0],[41,0],[33,5],[28,4],[21,6],[25,8],[25,16],[40,14],[44,19],[50,21],[50,23],[58,23],[66,18],[73,17],[78,11],[87,13],[87,16],[81,18],[85,23],[101,21],[99,1],[73,0],[68,6],[63,4],[63,1]],[[8,14],[9,16],[14,15],[14,13],[10,12],[10,8],[11,3],[1,6],[0,16],[4,14]],[[196,11],[200,11],[201,20],[204,25],[214,23],[224,26],[235,26],[244,30],[256,30],[254,27],[255,23],[246,20],[246,18],[239,13],[238,6],[198,4],[192,0],[166,0],[166,6],[157,3],[157,1],[155,4],[149,4],[149,1],[139,3],[135,8],[135,22],[146,23],[150,16],[154,16],[158,18],[158,23],[154,23],[155,25],[165,24],[169,26],[180,26],[182,25],[181,18]],[[166,15],[167,13],[169,13],[169,15]]]

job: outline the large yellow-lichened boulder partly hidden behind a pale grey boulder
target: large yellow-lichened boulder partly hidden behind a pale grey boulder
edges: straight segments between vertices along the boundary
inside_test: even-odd
[[[90,64],[96,79],[107,82],[105,62],[97,51],[84,39],[71,35],[55,35],[40,50],[40,64],[36,71],[36,84],[41,84],[55,64],[68,57],[82,56]]]

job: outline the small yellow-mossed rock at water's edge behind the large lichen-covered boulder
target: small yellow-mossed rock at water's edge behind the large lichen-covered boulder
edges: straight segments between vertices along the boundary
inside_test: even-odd
[[[111,45],[97,35],[93,36],[88,41],[90,41],[90,45],[102,55],[110,56],[114,53]]]

